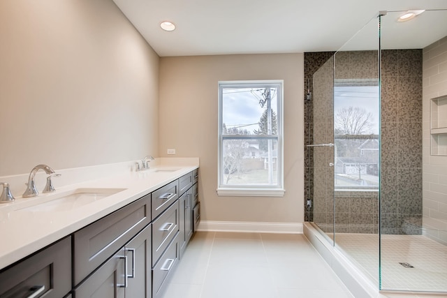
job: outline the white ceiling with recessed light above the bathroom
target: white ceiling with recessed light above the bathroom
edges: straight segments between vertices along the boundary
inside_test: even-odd
[[[446,0],[113,1],[160,57],[335,51],[380,10],[447,8]],[[177,29],[161,30],[166,20]],[[443,32],[424,29],[422,43],[446,36],[447,25],[426,26]]]

